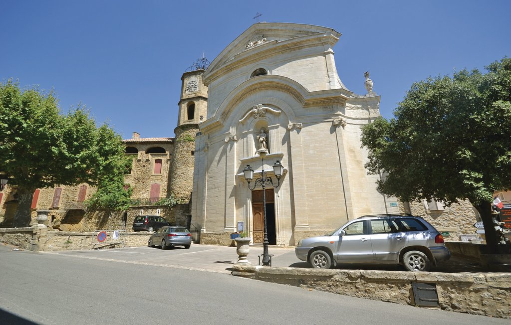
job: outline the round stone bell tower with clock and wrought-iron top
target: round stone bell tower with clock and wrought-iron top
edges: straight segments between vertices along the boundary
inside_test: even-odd
[[[199,123],[207,112],[207,87],[202,74],[210,64],[206,58],[197,60],[181,77],[181,96],[172,166],[170,170],[170,193],[176,198],[190,197],[193,189],[195,162],[195,136]]]

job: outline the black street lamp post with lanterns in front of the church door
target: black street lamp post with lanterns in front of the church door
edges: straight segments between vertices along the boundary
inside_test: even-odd
[[[254,170],[250,165],[247,165],[243,168],[243,174],[245,180],[248,183],[248,189],[253,191],[256,187],[261,186],[263,188],[263,223],[264,223],[264,238],[263,238],[263,266],[270,265],[270,255],[268,254],[268,228],[266,225],[266,186],[271,185],[274,188],[277,188],[281,184],[281,177],[284,171],[284,167],[281,162],[277,160],[273,164],[273,173],[277,178],[277,184],[273,184],[273,180],[268,176],[267,172],[264,170],[264,157],[261,155],[262,160],[262,171],[261,177],[255,179],[253,187],[250,187],[250,182],[253,180]]]

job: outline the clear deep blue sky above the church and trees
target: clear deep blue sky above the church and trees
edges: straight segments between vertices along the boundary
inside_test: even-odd
[[[123,138],[174,136],[181,75],[261,21],[342,34],[339,77],[365,93],[370,72],[386,118],[414,81],[511,56],[509,1],[1,0],[0,80],[55,89]]]

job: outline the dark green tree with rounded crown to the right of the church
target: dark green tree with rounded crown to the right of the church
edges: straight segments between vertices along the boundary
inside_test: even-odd
[[[379,189],[403,201],[468,199],[497,251],[494,191],[511,189],[511,59],[414,83],[394,111],[362,131]]]

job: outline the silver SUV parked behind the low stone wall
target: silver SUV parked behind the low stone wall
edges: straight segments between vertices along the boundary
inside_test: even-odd
[[[409,214],[365,215],[336,231],[298,241],[296,256],[315,268],[337,264],[401,264],[427,271],[451,257],[444,237],[422,217]]]

